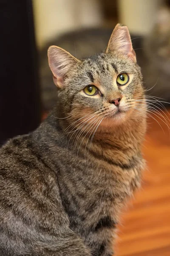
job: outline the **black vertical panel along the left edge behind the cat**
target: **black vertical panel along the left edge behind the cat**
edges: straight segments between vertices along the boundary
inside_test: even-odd
[[[31,0],[0,0],[0,144],[40,123]]]

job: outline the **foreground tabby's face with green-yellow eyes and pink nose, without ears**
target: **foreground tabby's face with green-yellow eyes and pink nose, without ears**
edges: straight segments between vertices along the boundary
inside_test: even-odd
[[[59,93],[64,109],[75,119],[91,115],[92,120],[97,113],[119,122],[133,114],[135,105],[131,100],[140,96],[143,87],[139,67],[128,58],[112,53],[82,61]]]

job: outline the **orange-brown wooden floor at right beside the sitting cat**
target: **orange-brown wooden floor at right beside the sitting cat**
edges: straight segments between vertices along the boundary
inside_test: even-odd
[[[170,256],[170,135],[156,119],[164,132],[148,119],[143,148],[147,169],[142,188],[122,214],[116,256]]]

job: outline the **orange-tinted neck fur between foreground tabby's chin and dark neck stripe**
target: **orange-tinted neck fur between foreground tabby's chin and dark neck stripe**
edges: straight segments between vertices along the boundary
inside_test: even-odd
[[[104,122],[103,122],[104,121]],[[114,122],[113,120],[103,120],[101,123],[96,125],[86,125],[85,128],[82,126],[81,129],[71,126],[66,131],[68,140],[76,140],[79,146],[91,146],[90,144],[96,144],[108,147],[117,147],[125,150],[129,147],[139,148],[142,144],[144,134],[146,131],[146,116],[138,115],[133,118],[127,118],[125,122]],[[60,123],[65,123],[62,120]],[[62,126],[62,125],[61,125]],[[68,124],[63,125],[69,127]],[[80,125],[81,127],[81,125]],[[75,131],[75,132],[74,132]],[[82,139],[81,139],[82,138]]]

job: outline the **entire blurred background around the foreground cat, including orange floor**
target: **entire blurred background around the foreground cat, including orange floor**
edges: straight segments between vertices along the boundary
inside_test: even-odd
[[[0,21],[0,145],[37,128],[57,101],[50,45],[85,58],[105,49],[116,23],[128,26],[154,104],[143,150],[144,192],[123,217],[117,255],[169,256],[170,0],[0,0]]]

